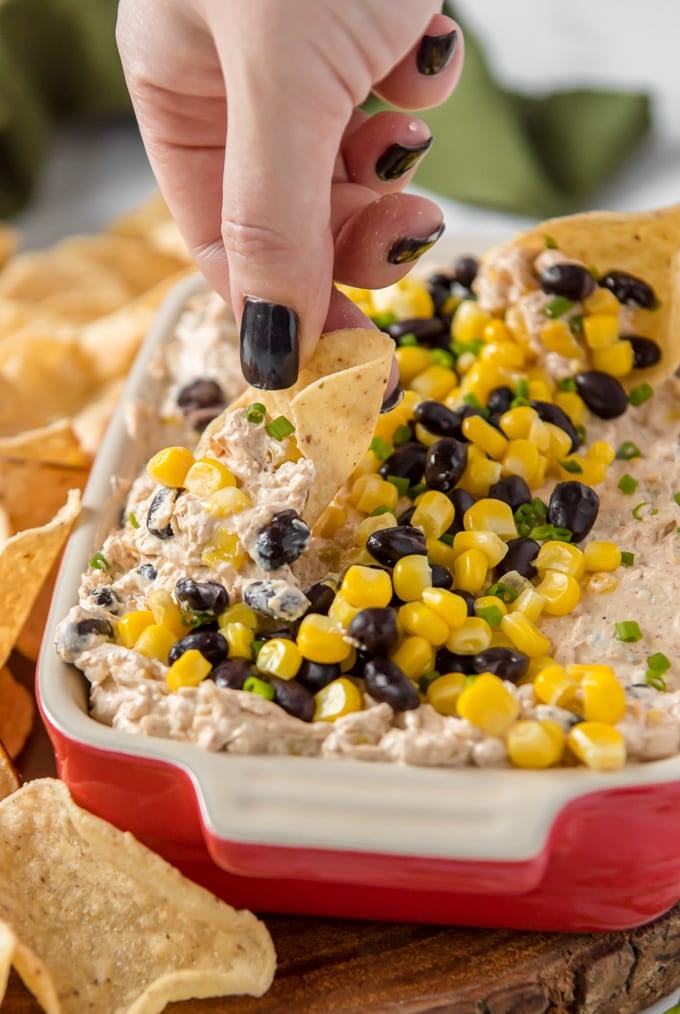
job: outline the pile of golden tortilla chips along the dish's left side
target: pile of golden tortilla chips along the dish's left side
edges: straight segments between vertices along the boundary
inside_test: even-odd
[[[33,704],[6,668],[37,657],[79,491],[126,374],[190,258],[154,198],[107,233],[16,254],[0,224],[0,741],[12,756]]]

